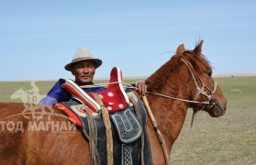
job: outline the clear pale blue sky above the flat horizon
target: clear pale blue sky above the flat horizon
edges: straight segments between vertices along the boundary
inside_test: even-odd
[[[64,65],[78,47],[125,77],[149,76],[184,43],[214,74],[256,73],[256,1],[1,0],[0,81],[72,78]]]

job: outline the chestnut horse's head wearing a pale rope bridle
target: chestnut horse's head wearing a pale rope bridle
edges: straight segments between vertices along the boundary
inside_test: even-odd
[[[212,77],[209,62],[201,53],[202,45],[203,40],[193,50],[185,50],[184,45],[180,45],[176,55],[180,56],[184,68],[191,75],[187,91],[195,103],[192,102],[190,106],[195,112],[205,110],[209,115],[217,117],[225,114],[227,100]]]

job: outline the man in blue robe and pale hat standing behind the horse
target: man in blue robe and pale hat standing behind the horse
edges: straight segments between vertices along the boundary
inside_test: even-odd
[[[79,86],[94,84],[95,70],[102,64],[102,60],[94,58],[93,54],[87,48],[79,48],[75,52],[72,61],[65,66],[65,70],[71,71],[74,79]],[[39,104],[53,105],[60,102],[67,102],[72,99],[61,85],[65,82],[60,79],[50,89],[50,92],[44,97]],[[144,82],[136,82],[139,92],[147,92],[147,85]],[[105,87],[83,88],[85,92],[100,92],[106,90]]]

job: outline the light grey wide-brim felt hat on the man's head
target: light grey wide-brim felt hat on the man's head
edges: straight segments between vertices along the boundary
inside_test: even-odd
[[[88,48],[78,48],[72,57],[72,61],[65,66],[65,70],[72,71],[72,64],[82,61],[95,62],[95,68],[102,64],[102,60],[96,59]]]

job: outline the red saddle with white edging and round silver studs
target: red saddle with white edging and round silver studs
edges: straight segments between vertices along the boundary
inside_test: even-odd
[[[106,90],[97,92],[103,104],[106,106],[109,114],[115,113],[116,111],[125,110],[128,107],[128,104],[130,104],[122,81],[122,71],[119,68],[114,67],[110,73],[110,81]],[[83,89],[72,80],[66,80],[66,82],[63,83],[63,86],[69,93],[72,94],[72,98],[79,100],[79,102],[88,106],[89,112],[92,115],[98,114],[101,106],[95,101],[93,93],[85,93]],[[81,106],[81,109],[76,106],[73,110],[76,112],[75,114],[63,104],[56,104],[56,106],[62,109],[65,114],[69,115],[70,119],[76,122],[76,125],[81,126],[81,122],[76,115],[85,115],[82,109],[83,106]]]

